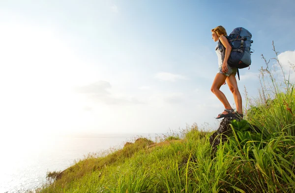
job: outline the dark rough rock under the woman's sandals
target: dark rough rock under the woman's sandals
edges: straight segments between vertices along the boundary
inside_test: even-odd
[[[225,142],[227,139],[227,137],[225,135],[228,135],[232,132],[232,128],[230,127],[230,123],[231,121],[235,120],[236,118],[233,117],[226,117],[224,118],[219,125],[219,128],[217,129],[216,132],[214,132],[210,138],[209,138],[209,142],[210,145],[212,146],[212,150],[213,152],[216,152],[217,150],[217,145],[220,144],[220,134],[221,135],[221,142]],[[236,119],[237,120],[237,119]],[[239,120],[237,120],[239,121]]]

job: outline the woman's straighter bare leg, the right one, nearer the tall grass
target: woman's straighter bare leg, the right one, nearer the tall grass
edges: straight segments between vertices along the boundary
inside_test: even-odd
[[[234,74],[228,76],[226,78],[226,82],[229,85],[229,88],[234,95],[234,99],[235,99],[235,103],[236,103],[236,112],[238,114],[243,114],[242,97],[241,97],[241,94],[237,88],[236,76]]]

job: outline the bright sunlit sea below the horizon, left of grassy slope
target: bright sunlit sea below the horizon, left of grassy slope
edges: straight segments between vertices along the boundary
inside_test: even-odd
[[[157,134],[91,134],[76,136],[8,137],[0,140],[0,193],[25,193],[46,183],[48,171],[62,171],[89,153],[123,147],[138,137]]]

